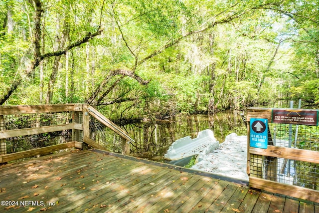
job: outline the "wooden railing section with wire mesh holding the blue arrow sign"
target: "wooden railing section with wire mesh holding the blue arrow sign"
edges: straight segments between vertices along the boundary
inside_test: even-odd
[[[250,187],[318,203],[318,110],[250,108],[247,126]]]

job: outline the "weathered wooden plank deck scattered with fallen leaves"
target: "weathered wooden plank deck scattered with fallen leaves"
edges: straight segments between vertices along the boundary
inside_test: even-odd
[[[317,203],[146,162],[73,151],[4,165],[0,212],[319,213]]]

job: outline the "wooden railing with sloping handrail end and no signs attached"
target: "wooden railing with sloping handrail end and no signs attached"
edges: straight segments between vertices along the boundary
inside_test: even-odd
[[[52,115],[56,115],[55,117],[58,117],[58,119],[55,120],[58,121],[53,121]],[[123,153],[129,153],[128,142],[132,139],[120,127],[88,104],[0,106],[0,163],[36,155],[46,155],[73,147],[84,149],[87,145],[106,150],[105,146],[96,143],[90,137],[92,135],[90,132],[90,116],[93,116],[101,125],[112,130],[114,134],[121,136],[123,139],[123,142],[121,142]],[[51,133],[69,134],[70,137],[59,140],[54,145],[44,142],[37,148],[39,146],[38,136],[44,135],[44,137],[50,138]],[[21,143],[16,141],[25,140],[25,138],[23,139],[25,136],[31,138],[28,146],[31,149],[12,151],[13,149],[21,149],[19,147]],[[7,152],[9,141],[16,143],[16,145],[11,144],[12,153]]]

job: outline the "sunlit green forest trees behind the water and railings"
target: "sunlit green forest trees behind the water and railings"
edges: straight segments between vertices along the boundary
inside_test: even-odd
[[[319,0],[1,0],[0,105],[164,118],[319,105]]]

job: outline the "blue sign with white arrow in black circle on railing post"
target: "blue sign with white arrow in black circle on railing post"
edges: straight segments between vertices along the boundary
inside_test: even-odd
[[[268,119],[250,118],[250,146],[267,149]]]

